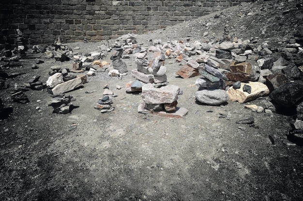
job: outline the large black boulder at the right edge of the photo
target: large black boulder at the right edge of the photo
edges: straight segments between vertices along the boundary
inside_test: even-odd
[[[274,89],[269,97],[277,104],[284,107],[297,107],[303,99],[303,85],[288,82]]]

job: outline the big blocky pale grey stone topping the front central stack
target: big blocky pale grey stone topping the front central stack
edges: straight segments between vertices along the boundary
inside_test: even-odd
[[[180,87],[175,85],[155,88],[151,83],[142,86],[142,99],[147,104],[172,103],[178,99]]]

